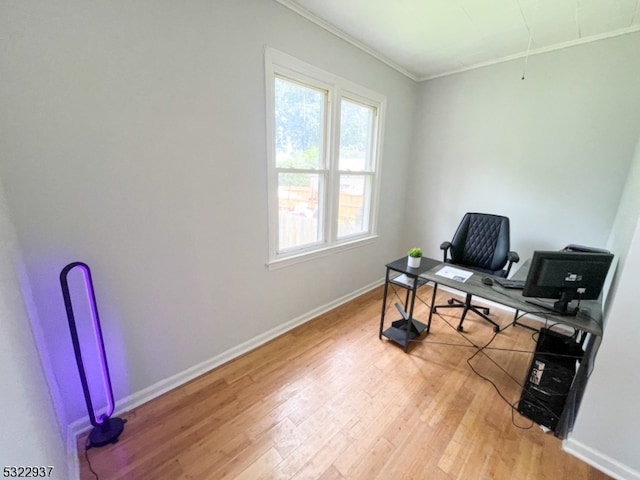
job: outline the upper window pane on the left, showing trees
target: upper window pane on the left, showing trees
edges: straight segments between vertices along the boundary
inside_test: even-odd
[[[322,168],[326,93],[275,79],[275,145],[278,168]]]

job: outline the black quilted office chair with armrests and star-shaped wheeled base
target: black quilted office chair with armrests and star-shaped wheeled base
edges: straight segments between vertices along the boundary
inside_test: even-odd
[[[445,263],[498,277],[506,278],[511,266],[520,261],[518,254],[509,250],[509,219],[488,213],[466,213],[453,239],[443,242],[440,249]],[[498,324],[487,316],[491,313],[488,308],[471,303],[470,293],[466,295],[464,302],[451,298],[447,305],[434,306],[433,311],[436,312],[438,308],[464,309],[458,324],[460,332],[463,331],[462,322],[468,311],[492,324],[494,332],[500,331]]]

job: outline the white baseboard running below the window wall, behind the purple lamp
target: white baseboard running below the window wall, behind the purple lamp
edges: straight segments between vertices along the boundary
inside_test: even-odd
[[[360,288],[354,292],[349,293],[343,297],[340,297],[332,302],[329,302],[325,305],[322,305],[318,308],[314,308],[309,312],[300,315],[297,318],[294,318],[282,325],[278,325],[271,330],[264,332],[257,337],[247,340],[240,345],[237,345],[225,352],[222,352],[215,357],[212,357],[208,360],[205,360],[202,363],[194,365],[180,373],[172,375],[169,378],[161,380],[153,385],[148,386],[147,388],[143,388],[142,390],[133,393],[127,397],[116,399],[116,409],[114,411],[114,416],[120,415],[124,412],[132,410],[144,403],[147,403],[154,398],[159,397],[160,395],[173,390],[185,383],[193,380],[194,378],[203,375],[210,370],[213,370],[224,363],[233,360],[234,358],[239,357],[240,355],[244,355],[251,350],[255,350],[261,345],[273,340],[274,338],[279,337],[280,335],[288,332],[289,330],[294,329],[297,326],[300,326],[314,318],[326,313],[340,305],[353,300],[354,298],[359,297],[367,293],[370,290],[373,290],[376,287],[379,287],[384,283],[384,279],[373,282],[363,288]],[[69,468],[69,475],[73,479],[80,478],[80,463],[78,461],[78,452],[77,452],[77,438],[79,435],[91,429],[91,422],[89,421],[89,416],[86,415],[82,418],[79,418],[69,424],[67,427],[67,466]]]

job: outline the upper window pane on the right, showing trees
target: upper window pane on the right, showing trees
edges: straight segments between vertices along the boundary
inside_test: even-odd
[[[375,110],[342,100],[340,104],[340,170],[371,170],[371,137]]]

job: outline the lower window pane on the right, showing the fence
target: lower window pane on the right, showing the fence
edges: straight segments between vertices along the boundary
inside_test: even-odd
[[[338,201],[338,238],[369,231],[371,177],[340,175]]]

